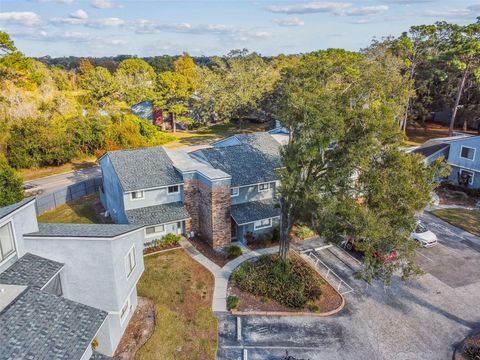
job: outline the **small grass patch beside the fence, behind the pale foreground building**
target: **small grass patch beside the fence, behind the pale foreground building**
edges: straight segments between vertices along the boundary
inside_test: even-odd
[[[99,214],[101,205],[98,193],[68,202],[38,217],[43,223],[102,224],[105,218]]]

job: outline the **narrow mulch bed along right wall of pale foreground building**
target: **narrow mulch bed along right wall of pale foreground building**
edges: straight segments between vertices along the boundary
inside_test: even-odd
[[[138,306],[128,323],[115,353],[117,360],[131,360],[155,330],[155,303],[138,297]]]

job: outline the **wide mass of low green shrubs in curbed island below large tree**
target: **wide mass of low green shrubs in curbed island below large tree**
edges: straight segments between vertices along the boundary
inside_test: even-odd
[[[245,262],[232,280],[245,292],[268,297],[291,308],[303,308],[321,295],[322,281],[313,269],[297,259],[284,264],[277,255],[261,256]]]

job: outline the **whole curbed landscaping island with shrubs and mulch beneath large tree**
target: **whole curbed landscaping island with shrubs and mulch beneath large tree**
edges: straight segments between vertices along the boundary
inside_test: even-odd
[[[281,266],[276,254],[240,265],[230,278],[229,307],[240,312],[322,314],[342,306],[341,295],[303,259],[292,254],[287,275]]]

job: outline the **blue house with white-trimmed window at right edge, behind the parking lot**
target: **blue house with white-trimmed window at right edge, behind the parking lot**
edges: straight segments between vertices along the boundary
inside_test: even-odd
[[[480,136],[455,133],[454,136],[428,140],[412,153],[423,155],[428,164],[443,157],[452,167],[448,181],[480,188]]]

